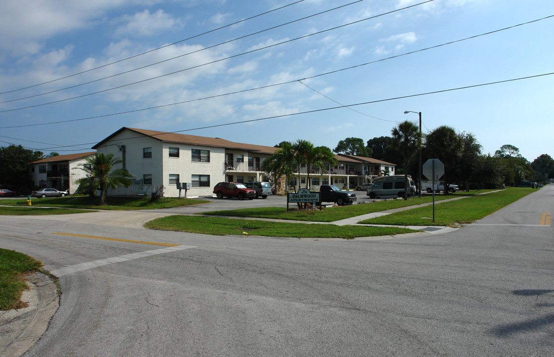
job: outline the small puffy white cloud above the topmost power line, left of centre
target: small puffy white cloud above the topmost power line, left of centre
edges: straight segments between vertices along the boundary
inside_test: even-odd
[[[183,21],[179,18],[172,18],[162,9],[151,14],[145,10],[134,15],[123,15],[118,22],[125,22],[125,25],[117,28],[115,34],[118,36],[130,35],[152,36],[172,28],[182,27]]]

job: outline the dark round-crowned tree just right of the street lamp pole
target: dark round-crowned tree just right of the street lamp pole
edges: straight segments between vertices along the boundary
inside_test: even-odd
[[[464,142],[454,128],[439,126],[425,136],[425,152],[429,158],[438,158],[444,164],[444,194],[449,194],[448,187],[455,175],[456,165],[460,163]]]

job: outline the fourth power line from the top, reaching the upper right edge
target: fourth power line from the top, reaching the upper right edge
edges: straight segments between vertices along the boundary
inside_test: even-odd
[[[462,41],[465,41],[465,40],[478,38],[478,37],[481,37],[481,36],[484,36],[484,35],[489,35],[489,34],[501,32],[501,31],[504,31],[504,30],[516,28],[516,27],[519,27],[519,26],[522,26],[522,25],[531,24],[531,23],[534,23],[534,22],[537,22],[537,21],[540,21],[540,20],[544,20],[544,19],[548,19],[548,18],[552,18],[552,17],[554,17],[554,15],[550,15],[550,16],[543,17],[543,18],[540,18],[540,19],[532,20],[532,21],[525,22],[525,23],[520,23],[520,24],[517,24],[517,25],[512,25],[510,27],[505,27],[505,28],[502,28],[502,29],[498,29],[498,30],[494,30],[494,31],[490,31],[490,32],[486,32],[486,33],[482,33],[482,34],[478,34],[478,35],[473,35],[473,36],[466,37],[466,38],[463,38],[463,39],[450,41],[450,42],[443,43],[443,44],[440,44],[440,45],[430,46],[430,47],[427,47],[427,48],[423,48],[423,49],[419,49],[419,50],[415,50],[415,51],[409,51],[409,52],[406,52],[406,53],[403,53],[403,54],[394,55],[394,56],[390,56],[390,57],[387,57],[387,58],[382,58],[382,59],[375,60],[375,61],[370,61],[370,62],[366,62],[366,63],[362,63],[362,64],[358,64],[358,65],[354,65],[354,66],[350,66],[350,67],[346,67],[346,68],[342,68],[342,69],[329,71],[329,72],[326,72],[326,73],[321,73],[321,74],[317,74],[317,75],[313,75],[313,76],[309,76],[309,77],[304,77],[302,79],[295,79],[295,80],[280,82],[280,83],[276,83],[276,84],[270,84],[270,85],[265,85],[265,86],[250,88],[250,89],[244,89],[244,90],[240,90],[240,91],[228,92],[228,93],[224,93],[224,94],[218,94],[218,95],[202,97],[202,98],[197,98],[197,99],[191,99],[191,100],[186,100],[186,101],[181,101],[181,102],[176,102],[176,103],[170,103],[170,104],[163,104],[163,105],[158,105],[158,106],[153,106],[153,107],[140,108],[140,109],[135,109],[135,110],[130,110],[130,111],[109,113],[109,114],[105,114],[105,115],[98,115],[98,116],[85,117],[85,118],[79,118],[79,119],[71,119],[71,120],[62,120],[62,121],[55,121],[55,122],[48,122],[48,123],[16,125],[16,126],[4,126],[4,127],[0,127],[0,129],[43,126],[43,125],[52,125],[52,124],[67,123],[67,122],[74,122],[74,121],[83,121],[83,120],[89,120],[89,119],[98,119],[98,118],[104,118],[104,117],[110,117],[110,116],[116,116],[116,115],[123,115],[123,114],[135,113],[135,112],[152,110],[152,109],[158,109],[158,108],[163,108],[163,107],[168,107],[168,106],[173,106],[173,105],[187,104],[187,103],[194,102],[194,101],[214,99],[214,98],[217,98],[217,97],[223,97],[223,96],[228,96],[228,95],[233,95],[233,94],[240,94],[240,93],[254,91],[254,90],[266,89],[266,88],[270,88],[270,87],[274,87],[274,86],[290,84],[290,83],[294,83],[294,82],[297,82],[297,81],[303,81],[303,80],[312,79],[312,78],[316,78],[316,77],[321,77],[321,76],[325,76],[325,75],[329,75],[329,74],[335,74],[335,73],[338,73],[338,72],[341,72],[341,71],[350,70],[350,69],[358,68],[358,67],[361,67],[361,66],[366,66],[366,65],[378,63],[378,62],[381,62],[381,61],[386,61],[386,60],[399,58],[399,57],[402,57],[402,56],[406,56],[406,55],[410,55],[410,54],[414,54],[414,53],[418,53],[418,52],[422,52],[422,51],[427,51],[427,50],[430,50],[430,49],[439,48],[439,47],[442,47],[442,46],[462,42]]]

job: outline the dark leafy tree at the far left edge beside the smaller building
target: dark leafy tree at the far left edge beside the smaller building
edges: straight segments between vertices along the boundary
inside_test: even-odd
[[[38,161],[43,152],[25,149],[23,146],[0,147],[0,186],[20,193],[30,193],[33,183],[29,163]]]

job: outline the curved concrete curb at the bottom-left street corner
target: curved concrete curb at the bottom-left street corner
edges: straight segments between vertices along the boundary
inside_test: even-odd
[[[58,310],[58,287],[44,273],[35,272],[27,279],[28,289],[21,300],[28,307],[0,311],[0,356],[24,354],[46,331],[50,318]]]

